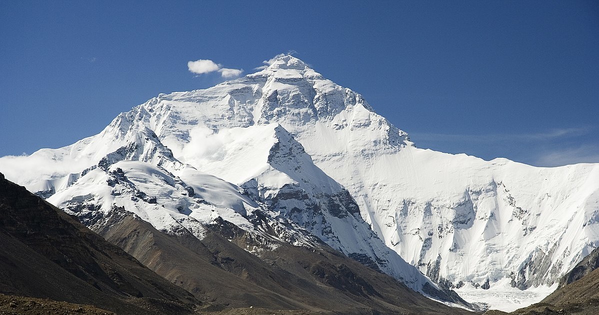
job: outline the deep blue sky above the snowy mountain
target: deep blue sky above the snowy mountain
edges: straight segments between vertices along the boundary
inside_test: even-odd
[[[419,147],[599,162],[599,1],[364,2],[0,1],[0,156],[295,50]]]

